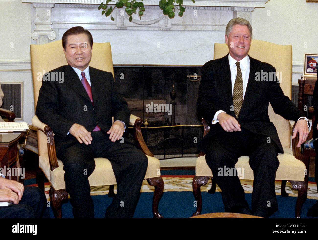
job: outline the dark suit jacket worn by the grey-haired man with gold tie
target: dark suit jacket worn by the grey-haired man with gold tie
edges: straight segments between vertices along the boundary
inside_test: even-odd
[[[235,117],[232,97],[231,70],[228,55],[211,60],[202,67],[202,79],[197,100],[197,113],[210,123],[210,132],[198,144],[206,152],[207,140],[224,131],[220,124],[211,124],[214,114],[223,110]],[[276,69],[265,62],[250,57],[250,74],[244,95],[244,101],[237,118],[241,128],[252,133],[270,137],[283,152],[274,124],[269,120],[268,103],[274,112],[286,119],[297,121],[304,114],[284,95],[277,80],[256,81],[255,73],[276,72]]]

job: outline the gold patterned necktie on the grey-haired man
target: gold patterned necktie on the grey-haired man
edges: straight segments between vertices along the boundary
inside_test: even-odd
[[[236,118],[239,116],[239,111],[241,110],[243,103],[243,78],[242,71],[239,67],[239,62],[235,63],[236,65],[236,78],[233,88],[233,104],[234,104],[234,113]]]

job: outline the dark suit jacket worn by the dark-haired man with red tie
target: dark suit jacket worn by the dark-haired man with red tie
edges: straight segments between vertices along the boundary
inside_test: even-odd
[[[45,81],[40,88],[36,115],[54,132],[56,152],[65,143],[66,134],[74,123],[91,132],[98,125],[108,131],[114,121],[121,120],[128,127],[130,111],[127,102],[114,87],[113,75],[89,67],[93,104],[78,75],[70,65],[50,72],[63,72],[62,81]]]

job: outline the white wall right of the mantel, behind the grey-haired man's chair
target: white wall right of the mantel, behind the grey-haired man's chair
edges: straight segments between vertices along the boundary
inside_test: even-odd
[[[252,12],[254,39],[293,46],[293,84],[303,72],[304,53],[318,53],[317,24],[318,3],[306,0],[269,0],[264,8]]]

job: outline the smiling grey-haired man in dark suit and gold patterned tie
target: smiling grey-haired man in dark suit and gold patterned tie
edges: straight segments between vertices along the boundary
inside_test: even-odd
[[[206,152],[205,159],[222,190],[226,212],[268,217],[278,209],[274,181],[279,166],[277,155],[283,152],[268,117],[268,104],[275,113],[297,122],[292,138],[299,132],[298,147],[308,136],[308,119],[302,118],[303,113],[283,94],[276,75],[270,81],[256,81],[257,72],[276,70],[247,55],[251,37],[250,23],[233,18],[225,30],[230,53],[202,67],[197,112],[209,123],[210,132],[198,148]],[[220,167],[234,169],[243,155],[249,156],[254,171],[252,211],[236,170],[231,176],[219,171]]]

